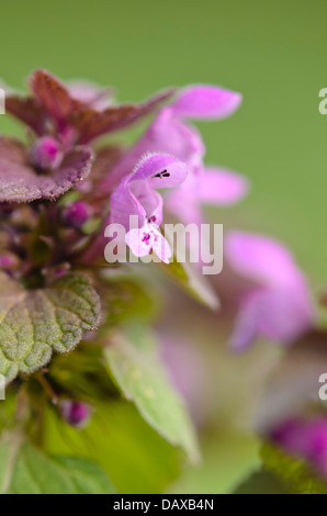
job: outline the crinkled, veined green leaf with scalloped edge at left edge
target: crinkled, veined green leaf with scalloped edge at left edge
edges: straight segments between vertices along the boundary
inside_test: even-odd
[[[82,274],[29,291],[0,273],[0,373],[7,382],[44,367],[53,351],[70,351],[99,323],[99,296]]]

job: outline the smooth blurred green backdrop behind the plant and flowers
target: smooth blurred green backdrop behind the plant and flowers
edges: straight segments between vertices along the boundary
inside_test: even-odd
[[[327,284],[327,116],[318,112],[318,92],[327,87],[326,15],[322,0],[1,0],[0,77],[23,88],[24,77],[44,67],[65,80],[112,85],[120,101],[196,82],[241,92],[244,103],[233,117],[199,124],[206,161],[251,181],[247,200],[215,211],[214,218],[284,242],[316,292]],[[2,132],[15,127],[0,117]],[[199,317],[206,332],[193,338],[205,347],[205,335],[213,341],[216,329],[205,313]],[[250,403],[273,360],[263,344],[235,358],[223,341],[213,361],[217,384],[211,385],[219,425],[203,436],[202,465],[174,483],[160,478],[160,489],[164,483],[177,492],[228,492],[256,465],[255,437],[234,437],[228,418],[244,417],[246,392]],[[160,471],[161,456],[148,467]],[[137,475],[132,462],[124,459],[114,475],[123,479],[124,468]],[[159,489],[143,482],[122,481],[121,491]]]

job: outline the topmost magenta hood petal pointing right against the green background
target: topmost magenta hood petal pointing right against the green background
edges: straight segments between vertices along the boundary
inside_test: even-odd
[[[181,92],[172,104],[177,116],[224,119],[239,106],[241,94],[214,86],[194,86]]]

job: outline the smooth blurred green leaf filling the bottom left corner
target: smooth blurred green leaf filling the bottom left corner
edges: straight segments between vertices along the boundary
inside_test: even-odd
[[[94,462],[46,456],[30,444],[0,444],[0,494],[112,494],[115,490]]]

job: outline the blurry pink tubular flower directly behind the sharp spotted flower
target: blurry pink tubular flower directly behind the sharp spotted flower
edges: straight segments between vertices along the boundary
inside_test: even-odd
[[[102,187],[110,190],[145,153],[162,152],[185,162],[190,170],[182,187],[167,197],[167,207],[182,222],[200,223],[202,203],[237,202],[247,193],[247,180],[228,170],[205,168],[201,135],[184,119],[224,119],[238,108],[240,101],[239,93],[211,86],[182,90],[172,103],[160,110],[138,143],[121,157]]]

